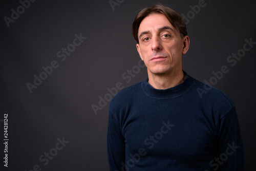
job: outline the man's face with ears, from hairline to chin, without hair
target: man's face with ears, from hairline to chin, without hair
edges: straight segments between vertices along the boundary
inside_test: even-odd
[[[136,45],[148,74],[177,73],[182,70],[181,56],[189,46],[188,36],[181,38],[163,14],[145,17],[138,30],[139,44]]]

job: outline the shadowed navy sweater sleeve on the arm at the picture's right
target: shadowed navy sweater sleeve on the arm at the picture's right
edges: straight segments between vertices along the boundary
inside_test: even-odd
[[[244,147],[234,106],[221,118],[217,129],[216,157],[210,162],[211,168],[219,171],[244,170]]]

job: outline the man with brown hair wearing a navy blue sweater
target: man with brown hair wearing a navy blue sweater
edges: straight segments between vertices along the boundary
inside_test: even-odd
[[[182,70],[189,47],[182,17],[162,5],[142,9],[133,36],[148,78],[110,103],[110,171],[244,170],[234,104]]]

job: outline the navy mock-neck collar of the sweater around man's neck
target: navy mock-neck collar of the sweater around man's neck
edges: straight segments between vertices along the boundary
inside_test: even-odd
[[[183,72],[186,75],[186,78],[182,83],[175,87],[164,90],[155,89],[150,83],[148,83],[148,78],[146,78],[144,81],[142,81],[142,88],[147,95],[155,98],[175,98],[188,91],[194,82],[194,78],[190,77],[185,71]]]

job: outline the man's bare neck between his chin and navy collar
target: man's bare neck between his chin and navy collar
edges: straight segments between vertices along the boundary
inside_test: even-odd
[[[182,70],[166,74],[153,74],[148,71],[148,83],[155,89],[169,89],[182,83],[185,75]]]

